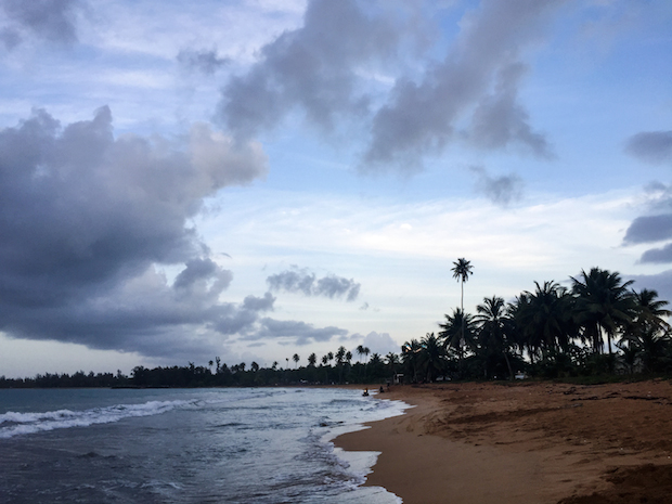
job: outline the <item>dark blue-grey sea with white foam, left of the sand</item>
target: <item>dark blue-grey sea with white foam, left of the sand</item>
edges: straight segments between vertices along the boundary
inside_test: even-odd
[[[333,388],[0,390],[1,503],[401,502],[331,440],[403,413]]]

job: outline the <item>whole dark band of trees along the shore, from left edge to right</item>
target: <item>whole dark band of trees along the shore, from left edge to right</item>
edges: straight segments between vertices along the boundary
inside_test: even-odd
[[[631,288],[619,273],[593,268],[570,277],[571,287],[556,282],[535,283],[513,301],[483,298],[476,313],[464,312],[464,283],[471,274],[469,261],[454,263],[461,282],[461,307],[445,314],[440,331],[411,339],[400,353],[383,357],[363,346],[352,352],[339,347],[320,360],[308,357],[298,366],[298,354],[285,367],[274,362],[228,366],[220,359],[208,366],[146,369],[131,376],[112,373],[37,375],[34,378],[0,377],[0,387],[212,387],[296,384],[380,384],[393,376],[406,383],[436,379],[514,379],[531,377],[654,375],[672,373],[672,329],[665,321],[672,312],[656,290]]]

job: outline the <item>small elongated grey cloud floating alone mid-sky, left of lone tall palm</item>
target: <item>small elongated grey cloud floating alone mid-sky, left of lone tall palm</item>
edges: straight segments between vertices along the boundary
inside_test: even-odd
[[[361,284],[352,279],[336,275],[316,279],[314,273],[298,268],[270,275],[266,281],[271,290],[302,293],[305,296],[324,296],[329,299],[346,296],[348,301],[354,301],[361,288]]]

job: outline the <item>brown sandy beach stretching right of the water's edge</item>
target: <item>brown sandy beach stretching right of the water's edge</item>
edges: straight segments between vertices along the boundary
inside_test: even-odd
[[[668,380],[393,386],[403,416],[338,437],[380,452],[367,486],[404,504],[672,503]]]

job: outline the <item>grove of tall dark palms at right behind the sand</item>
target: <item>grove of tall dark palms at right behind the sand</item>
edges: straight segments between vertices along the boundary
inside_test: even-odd
[[[473,267],[465,259],[453,264],[464,299]],[[509,302],[486,297],[475,314],[462,301],[436,336],[402,346],[412,380],[672,373],[667,300],[599,268],[569,280],[570,287],[535,282]]]

